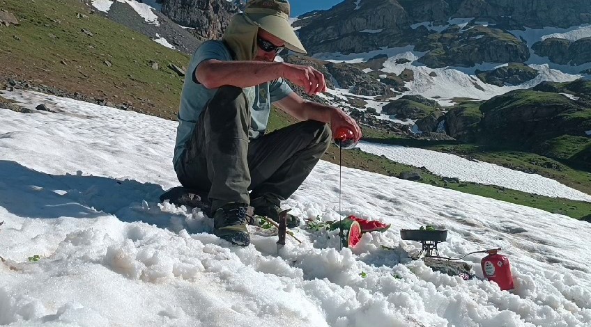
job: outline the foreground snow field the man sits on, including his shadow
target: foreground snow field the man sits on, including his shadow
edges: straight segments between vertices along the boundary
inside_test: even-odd
[[[321,161],[284,205],[300,218],[391,223],[339,250],[296,229],[252,245],[168,203],[176,123],[28,91],[58,113],[0,115],[0,323],[39,326],[588,326],[590,225],[537,209]],[[52,147],[52,151],[46,150]],[[435,273],[399,229],[449,230],[442,255],[503,248],[516,289]],[[393,250],[382,248],[387,246]],[[38,262],[27,257],[42,255]],[[482,255],[470,255],[477,275]],[[399,264],[401,263],[401,264]],[[367,274],[362,278],[360,274]]]

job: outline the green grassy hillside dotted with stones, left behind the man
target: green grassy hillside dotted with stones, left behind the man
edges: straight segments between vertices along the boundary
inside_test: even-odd
[[[3,0],[2,9],[20,21],[20,26],[0,27],[2,79],[29,80],[113,103],[132,102],[138,111],[176,117],[183,79],[167,66],[185,66],[185,54],[91,15],[78,0]],[[160,69],[153,70],[151,61]]]

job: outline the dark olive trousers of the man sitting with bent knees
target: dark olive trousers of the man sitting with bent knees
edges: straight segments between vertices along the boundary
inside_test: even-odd
[[[177,165],[183,186],[208,192],[212,212],[265,197],[279,205],[328,149],[328,125],[298,122],[249,141],[250,109],[242,88],[222,86],[201,113]],[[252,191],[249,193],[249,191]]]

